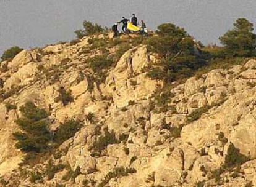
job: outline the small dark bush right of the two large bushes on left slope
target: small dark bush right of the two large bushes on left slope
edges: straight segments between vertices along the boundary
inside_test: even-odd
[[[108,129],[104,130],[104,135],[101,135],[95,143],[93,143],[93,151],[101,152],[109,144],[118,143],[114,130],[108,132]]]

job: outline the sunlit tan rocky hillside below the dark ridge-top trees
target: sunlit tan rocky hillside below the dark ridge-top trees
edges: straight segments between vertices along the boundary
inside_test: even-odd
[[[147,46],[117,57],[119,44],[92,40],[113,39],[23,50],[1,63],[2,186],[256,185],[256,60],[166,89],[147,76],[159,62]],[[92,59],[105,50],[115,63],[99,70]],[[68,119],[82,124],[30,165],[13,135],[28,102],[48,113],[52,133]]]

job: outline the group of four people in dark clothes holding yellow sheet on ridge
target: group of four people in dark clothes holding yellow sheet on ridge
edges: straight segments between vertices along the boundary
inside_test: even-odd
[[[122,31],[124,34],[127,34],[130,32],[129,29],[127,29],[128,24],[132,23],[133,26],[138,27],[138,19],[135,16],[135,14],[132,14],[132,18],[129,20],[126,17],[122,17],[122,20],[120,22],[114,23],[114,25],[112,26],[112,31],[114,32],[114,36],[119,36],[119,31],[118,31],[118,25],[120,23],[122,23]],[[146,28],[146,24],[145,22],[143,22],[143,20],[141,20],[141,26],[140,26],[140,33],[141,34],[145,34],[147,33],[147,28]],[[135,31],[132,31],[133,33],[135,33]]]

